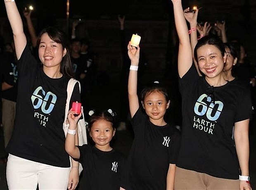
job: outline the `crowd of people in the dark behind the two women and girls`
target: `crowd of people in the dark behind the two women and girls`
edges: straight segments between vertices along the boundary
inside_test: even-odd
[[[185,9],[186,13],[189,9]],[[199,10],[194,12],[194,15],[197,16],[199,14]],[[193,16],[194,16],[193,15]],[[26,26],[28,27],[27,38],[29,39],[28,46],[33,56],[35,56],[38,63],[40,63],[40,58],[38,56],[38,34],[36,34],[36,30],[33,26],[31,20],[31,11],[26,10],[23,12],[24,18],[26,19]],[[234,79],[238,79],[239,83],[242,84],[247,90],[249,97],[252,102],[252,116],[250,118],[249,125],[253,123],[255,119],[255,107],[256,107],[256,69],[255,63],[252,63],[251,60],[248,60],[247,55],[247,47],[244,46],[244,42],[241,42],[239,37],[237,38],[229,38],[226,33],[225,24],[228,21],[216,21],[215,23],[204,22],[201,23],[197,21],[197,17],[193,17],[191,15],[185,14],[185,19],[187,24],[189,25],[189,34],[190,34],[190,45],[192,50],[194,50],[197,41],[202,37],[206,37],[208,35],[216,35],[219,39],[225,44],[225,52],[227,53],[227,61],[225,62],[225,80],[232,81]],[[129,101],[128,101],[128,74],[130,67],[130,59],[127,54],[127,44],[126,42],[126,33],[125,33],[125,16],[117,16],[117,20],[120,23],[120,48],[122,52],[122,69],[120,70],[120,79],[118,82],[119,93],[121,98],[120,108],[118,113],[118,124],[117,130],[131,130],[129,127],[130,121],[135,114],[133,111],[133,116],[130,115],[129,112]],[[196,23],[195,25],[193,25]],[[91,103],[93,100],[93,95],[95,90],[102,85],[102,83],[113,83],[116,85],[116,82],[109,81],[109,77],[107,74],[99,74],[97,68],[97,53],[90,51],[90,39],[89,38],[80,38],[76,35],[76,28],[79,25],[79,21],[75,20],[72,23],[71,27],[71,35],[68,39],[69,47],[68,51],[70,53],[71,63],[73,74],[76,80],[81,83],[81,102],[84,107],[84,112],[87,117],[90,110],[94,109],[94,105]],[[175,33],[172,35],[173,42],[177,42],[173,46],[173,52],[177,52],[178,50],[178,35]],[[14,118],[16,114],[16,100],[17,100],[17,84],[19,83],[19,74],[17,72],[17,56],[15,53],[14,42],[5,42],[1,40],[1,49],[0,49],[0,65],[1,65],[1,77],[0,82],[2,84],[1,88],[1,127],[4,132],[4,140],[5,147],[7,146],[9,139],[12,135],[12,130],[14,126]],[[129,50],[129,49],[128,49]],[[178,62],[178,53],[173,53],[173,59]],[[143,84],[140,81],[143,79],[145,72],[147,72],[147,55],[140,52],[140,60],[139,60],[139,70],[138,70],[138,87],[137,91],[143,89]],[[193,64],[197,69],[198,76],[205,76],[204,73],[200,72],[198,65],[198,60],[193,55]],[[168,89],[168,93],[171,94],[171,97],[175,99],[174,103],[171,100],[171,108],[167,110],[166,121],[171,125],[175,126],[180,130],[182,127],[182,114],[181,114],[181,95],[178,90],[178,86],[174,84],[178,83],[178,69],[175,71],[177,73],[175,81],[167,81],[169,80],[168,73],[170,71],[166,70],[166,76],[163,76],[162,83],[173,85],[170,89]],[[168,76],[168,77],[167,77]],[[152,82],[152,81],[147,81]],[[98,89],[97,89],[98,90]],[[97,91],[98,92],[98,91]],[[103,95],[104,96],[104,95]],[[173,105],[172,105],[173,104]],[[136,104],[137,105],[137,104]],[[173,122],[172,120],[175,120]],[[253,127],[250,127],[249,133],[254,130]],[[113,134],[114,136],[114,134]],[[93,143],[93,142],[92,142]],[[79,158],[79,157],[78,157]],[[7,153],[5,157],[1,158],[1,162],[7,162]]]

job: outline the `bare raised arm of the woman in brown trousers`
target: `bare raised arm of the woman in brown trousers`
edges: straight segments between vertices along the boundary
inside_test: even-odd
[[[178,73],[182,78],[192,65],[192,50],[181,0],[172,0],[172,2],[175,27],[179,37]]]

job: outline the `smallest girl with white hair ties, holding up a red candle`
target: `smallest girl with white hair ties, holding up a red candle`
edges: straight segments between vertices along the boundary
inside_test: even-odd
[[[80,181],[81,189],[86,190],[119,190],[120,173],[125,157],[122,153],[110,146],[110,141],[116,132],[114,125],[115,113],[107,111],[89,111],[88,130],[94,146],[84,144],[76,146],[76,123],[80,115],[75,116],[74,111],[68,114],[69,130],[67,133],[65,149],[75,160],[83,166],[83,180]]]

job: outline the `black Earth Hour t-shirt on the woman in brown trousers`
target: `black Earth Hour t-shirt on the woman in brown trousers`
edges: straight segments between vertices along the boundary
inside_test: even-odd
[[[183,120],[177,166],[238,179],[232,130],[235,122],[250,118],[250,96],[236,79],[223,86],[209,86],[194,66],[180,79]]]

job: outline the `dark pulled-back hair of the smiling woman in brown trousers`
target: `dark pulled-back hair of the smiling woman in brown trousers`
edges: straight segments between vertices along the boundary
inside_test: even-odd
[[[221,55],[222,56],[225,55],[225,46],[224,46],[223,42],[221,41],[221,39],[217,35],[210,34],[210,35],[206,35],[206,36],[202,37],[201,39],[199,39],[197,42],[197,45],[194,48],[194,58],[197,62],[198,62],[197,50],[199,49],[199,47],[207,45],[207,44],[216,46],[216,48],[218,48],[220,50]]]

